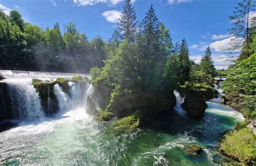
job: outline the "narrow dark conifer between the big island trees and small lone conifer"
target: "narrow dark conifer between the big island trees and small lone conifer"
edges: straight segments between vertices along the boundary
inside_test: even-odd
[[[180,52],[179,52],[179,69],[181,76],[181,84],[190,79],[191,63],[190,55],[188,52],[187,41],[185,39],[181,40]]]

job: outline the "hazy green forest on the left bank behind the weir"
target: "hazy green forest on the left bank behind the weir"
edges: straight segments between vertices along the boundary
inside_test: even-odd
[[[58,23],[41,29],[24,22],[15,10],[0,10],[0,69],[27,71],[89,72],[102,67],[106,43],[100,37],[87,40],[69,22],[62,34]]]

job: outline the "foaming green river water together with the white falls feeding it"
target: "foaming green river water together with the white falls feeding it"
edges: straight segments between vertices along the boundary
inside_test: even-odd
[[[46,117],[31,78],[5,81],[16,104],[14,112],[23,118],[14,120],[18,126],[0,133],[0,164],[214,165],[223,162],[218,153],[220,137],[244,120],[240,113],[221,105],[220,99],[207,102],[203,119],[193,118],[180,107],[182,101],[175,91],[176,112],[155,117],[134,133],[113,135],[107,123],[86,114],[91,85],[80,92],[79,85],[70,82],[71,95],[55,85],[60,110]],[[192,143],[203,146],[203,152],[196,156],[184,153],[183,146]]]

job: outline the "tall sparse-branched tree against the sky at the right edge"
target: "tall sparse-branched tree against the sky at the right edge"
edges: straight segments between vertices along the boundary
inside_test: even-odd
[[[247,57],[250,56],[250,26],[252,23],[252,15],[255,12],[255,2],[254,0],[241,0],[235,6],[235,11],[233,15],[230,16],[231,23],[233,25],[230,32],[234,34],[235,38],[231,40],[233,45],[233,50],[239,50],[244,48]],[[245,39],[244,45],[241,45],[242,39]]]

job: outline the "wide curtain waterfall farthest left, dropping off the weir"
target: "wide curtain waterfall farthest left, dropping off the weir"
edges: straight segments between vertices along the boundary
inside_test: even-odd
[[[44,115],[41,100],[31,79],[10,79],[7,83],[15,117],[30,119]]]

